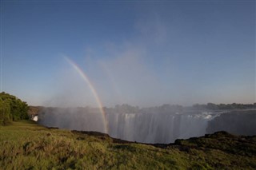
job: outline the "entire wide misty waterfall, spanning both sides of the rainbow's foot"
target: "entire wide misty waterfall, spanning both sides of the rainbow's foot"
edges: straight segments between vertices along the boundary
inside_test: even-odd
[[[142,143],[174,142],[203,136],[213,113],[106,113],[108,133],[114,138]],[[101,113],[86,109],[45,109],[38,122],[49,127],[104,132]]]

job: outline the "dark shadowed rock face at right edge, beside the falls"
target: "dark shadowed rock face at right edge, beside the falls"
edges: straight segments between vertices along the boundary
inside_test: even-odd
[[[223,113],[209,121],[207,133],[224,130],[236,135],[256,135],[256,111]]]

